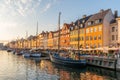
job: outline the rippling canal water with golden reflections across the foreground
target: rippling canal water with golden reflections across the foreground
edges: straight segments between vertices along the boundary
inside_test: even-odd
[[[72,69],[0,51],[0,80],[120,80],[120,72],[90,66]]]

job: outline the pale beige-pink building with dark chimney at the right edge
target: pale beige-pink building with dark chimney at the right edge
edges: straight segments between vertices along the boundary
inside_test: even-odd
[[[120,17],[117,15],[117,11],[114,13],[115,18],[110,24],[110,47],[118,47],[120,44]]]

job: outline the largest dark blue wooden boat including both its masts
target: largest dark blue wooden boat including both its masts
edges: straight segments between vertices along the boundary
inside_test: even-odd
[[[58,28],[59,28],[59,34],[58,34],[58,51],[60,51],[60,15],[61,13],[59,13],[59,23],[58,23]],[[79,30],[79,29],[78,29]],[[79,33],[78,33],[78,38],[79,38]],[[78,41],[79,44],[79,41]],[[78,51],[79,51],[79,46],[78,46]],[[67,52],[65,52],[65,54],[67,54]],[[65,55],[63,54],[63,55]],[[68,53],[68,55],[70,55]],[[75,57],[75,56],[74,56]],[[82,66],[86,66],[86,59],[85,58],[81,58],[82,56],[78,56],[80,57],[79,59],[74,59],[73,57],[64,57],[61,56],[61,53],[50,53],[50,60],[54,63],[58,63],[58,64],[62,64],[62,65],[66,65],[66,66],[71,66],[71,67],[82,67]]]

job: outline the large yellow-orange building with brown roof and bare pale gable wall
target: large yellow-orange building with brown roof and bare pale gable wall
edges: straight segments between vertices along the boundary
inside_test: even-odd
[[[87,48],[109,47],[110,22],[114,15],[110,9],[100,10],[93,14],[86,22],[86,42]]]

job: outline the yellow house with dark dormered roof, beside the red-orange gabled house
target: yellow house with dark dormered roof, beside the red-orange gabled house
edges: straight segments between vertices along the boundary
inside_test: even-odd
[[[73,49],[85,48],[85,23],[90,17],[84,15],[70,26],[70,46]]]

